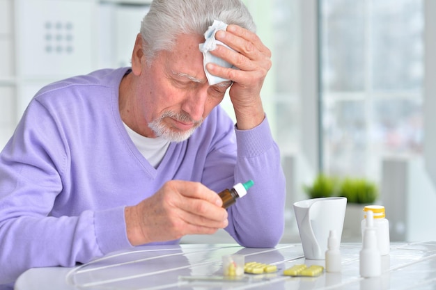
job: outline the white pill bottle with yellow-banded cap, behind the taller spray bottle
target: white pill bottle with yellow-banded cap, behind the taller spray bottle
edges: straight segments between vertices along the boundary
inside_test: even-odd
[[[380,252],[380,255],[389,255],[391,243],[389,238],[389,220],[386,218],[384,207],[382,205],[367,205],[364,207],[364,211],[373,211],[375,235],[377,236],[377,248]],[[362,239],[365,228],[366,214],[364,215],[364,219],[361,221]]]

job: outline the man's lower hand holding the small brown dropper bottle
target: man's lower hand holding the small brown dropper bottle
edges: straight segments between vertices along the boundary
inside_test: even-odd
[[[166,182],[155,195],[125,209],[132,245],[213,234],[228,225],[221,198],[197,182]]]

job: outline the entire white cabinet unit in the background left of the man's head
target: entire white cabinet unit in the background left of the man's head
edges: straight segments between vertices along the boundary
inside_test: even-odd
[[[130,65],[151,0],[0,0],[0,150],[47,83]]]

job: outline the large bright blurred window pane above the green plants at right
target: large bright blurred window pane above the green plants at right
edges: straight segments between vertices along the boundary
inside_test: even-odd
[[[380,179],[423,150],[423,1],[319,3],[323,170]]]

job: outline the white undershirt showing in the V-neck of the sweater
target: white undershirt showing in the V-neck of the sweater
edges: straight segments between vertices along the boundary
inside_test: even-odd
[[[139,152],[141,152],[141,154],[147,159],[151,166],[157,168],[160,161],[162,161],[162,159],[164,158],[170,142],[160,137],[144,137],[141,134],[138,134],[137,132],[130,129],[130,127],[128,127],[124,122],[123,124],[125,129],[127,130],[127,134],[129,134],[130,139],[132,139],[134,145],[138,148]]]

